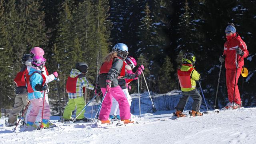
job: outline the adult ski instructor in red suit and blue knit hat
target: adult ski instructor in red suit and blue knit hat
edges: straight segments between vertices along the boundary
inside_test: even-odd
[[[234,98],[234,109],[241,107],[241,98],[238,90],[238,78],[244,66],[244,58],[249,54],[247,46],[239,34],[236,32],[234,24],[230,24],[225,30],[227,41],[224,44],[223,55],[220,56],[220,62],[225,62],[226,68],[226,85],[228,88],[228,104],[223,110],[232,109]],[[238,66],[236,67],[238,60]],[[237,73],[236,73],[237,68]],[[236,80],[235,80],[236,78]],[[236,90],[234,96],[234,88],[236,82]]]

